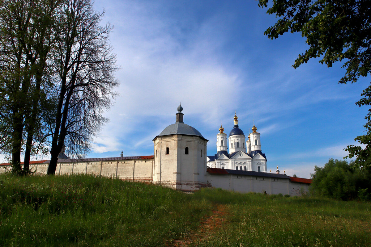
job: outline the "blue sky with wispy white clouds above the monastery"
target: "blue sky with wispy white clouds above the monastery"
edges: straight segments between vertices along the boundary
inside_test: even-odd
[[[369,78],[338,84],[341,64],[318,60],[293,69],[305,38],[269,40],[263,33],[276,19],[257,1],[96,0],[95,9],[114,25],[121,96],[87,157],[153,155],[152,139],[175,122],[179,102],[184,122],[209,140],[207,155],[236,111],[246,136],[255,120],[267,168],[289,176],[344,157],[364,133],[367,108],[354,103]]]

